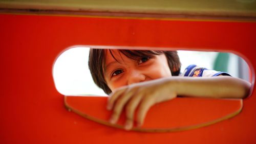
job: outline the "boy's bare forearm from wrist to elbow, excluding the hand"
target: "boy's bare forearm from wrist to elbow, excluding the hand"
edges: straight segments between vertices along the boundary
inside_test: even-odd
[[[245,98],[251,84],[230,76],[217,77],[171,77],[177,95],[209,98]]]

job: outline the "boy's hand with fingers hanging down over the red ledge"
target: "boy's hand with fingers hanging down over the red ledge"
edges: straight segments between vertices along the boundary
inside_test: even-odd
[[[110,94],[108,106],[113,110],[110,123],[115,124],[125,108],[126,122],[124,128],[130,130],[134,121],[137,126],[142,126],[146,112],[156,103],[177,97],[176,89],[172,81],[164,79],[135,83],[117,89]],[[138,108],[137,119],[134,120],[135,109]]]

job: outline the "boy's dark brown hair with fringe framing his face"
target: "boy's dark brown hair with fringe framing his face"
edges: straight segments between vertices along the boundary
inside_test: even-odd
[[[94,82],[101,88],[106,94],[110,94],[111,90],[106,84],[104,78],[104,67],[106,51],[109,50],[113,58],[111,49],[90,49],[89,53],[89,69],[92,74]],[[130,59],[138,60],[141,57],[152,57],[153,55],[164,54],[167,58],[168,66],[173,76],[177,76],[180,73],[180,59],[177,51],[163,51],[163,50],[118,50]]]

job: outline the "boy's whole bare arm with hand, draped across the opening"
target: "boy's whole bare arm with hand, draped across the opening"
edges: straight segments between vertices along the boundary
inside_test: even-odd
[[[113,110],[110,122],[116,123],[123,109],[126,111],[124,128],[129,130],[134,121],[143,124],[148,109],[159,102],[179,96],[207,98],[245,98],[251,84],[245,80],[230,76],[217,77],[167,77],[135,83],[111,93],[108,106]],[[134,120],[135,109],[137,119]]]

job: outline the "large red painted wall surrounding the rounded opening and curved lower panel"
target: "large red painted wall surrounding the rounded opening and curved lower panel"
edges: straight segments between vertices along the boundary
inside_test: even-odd
[[[1,143],[256,143],[254,91],[232,119],[182,132],[139,133],[67,111],[52,78],[54,60],[63,49],[115,45],[234,51],[249,62],[254,83],[255,22],[2,14],[0,35]]]

